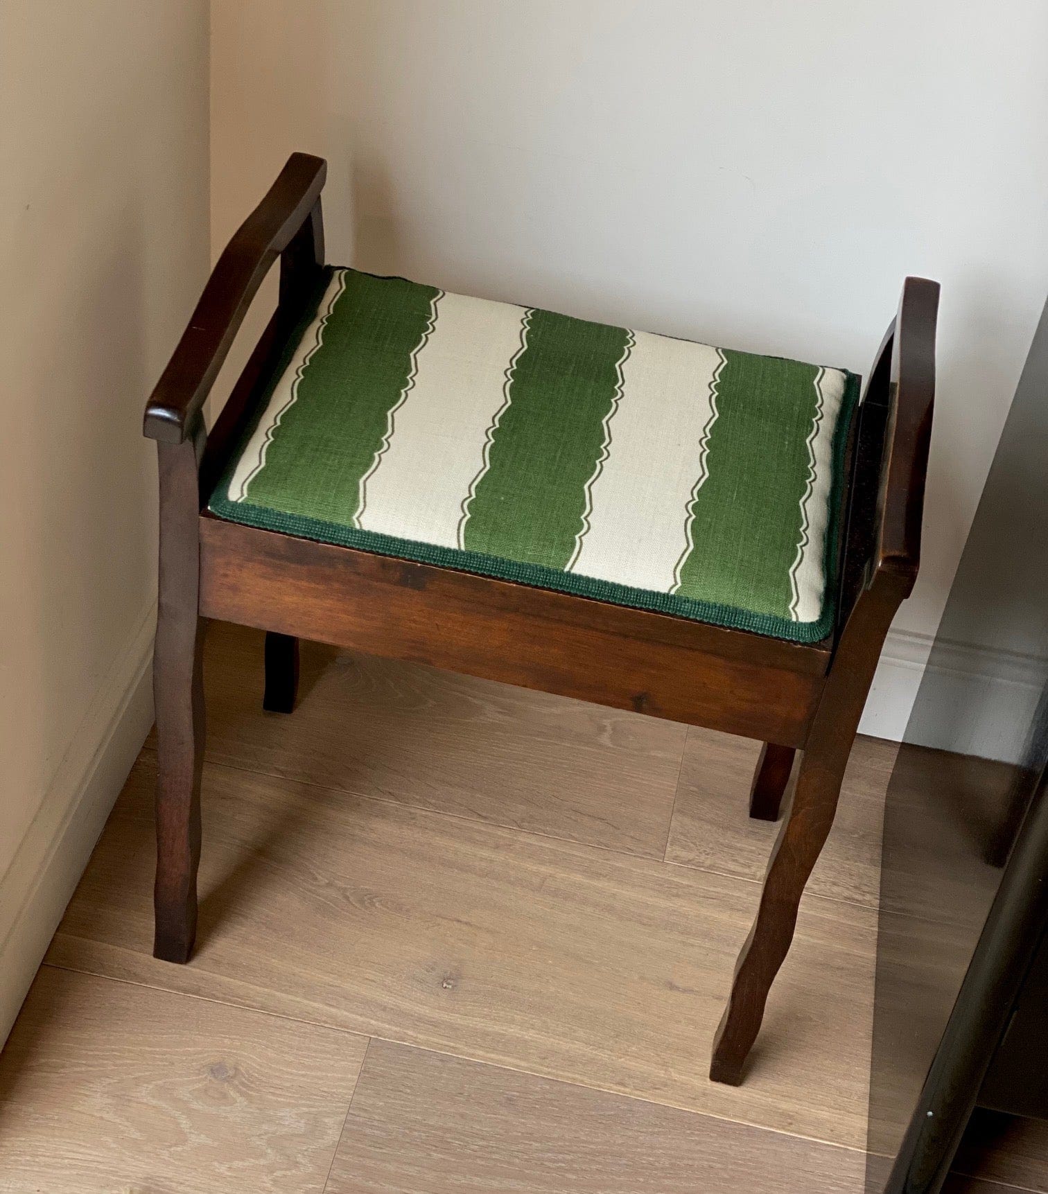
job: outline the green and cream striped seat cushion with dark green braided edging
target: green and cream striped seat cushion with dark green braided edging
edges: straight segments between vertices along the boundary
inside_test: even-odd
[[[216,515],[795,641],[857,378],[332,270]]]

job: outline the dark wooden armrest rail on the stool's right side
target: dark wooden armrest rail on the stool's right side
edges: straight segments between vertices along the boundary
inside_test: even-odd
[[[877,499],[876,568],[907,576],[911,586],[920,562],[938,302],[937,282],[907,278],[892,344],[890,407]]]

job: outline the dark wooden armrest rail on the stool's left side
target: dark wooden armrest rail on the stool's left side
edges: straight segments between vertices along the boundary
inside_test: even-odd
[[[152,439],[181,443],[189,435],[263,278],[309,219],[326,177],[322,158],[291,154],[234,233],[146,404],[142,430]]]

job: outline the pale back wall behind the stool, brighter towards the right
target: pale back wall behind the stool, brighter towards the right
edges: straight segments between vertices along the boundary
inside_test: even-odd
[[[211,25],[212,254],[306,149],[332,260],[635,327],[865,373],[902,277],[939,278],[919,675],[1044,301],[1042,0],[214,0]]]

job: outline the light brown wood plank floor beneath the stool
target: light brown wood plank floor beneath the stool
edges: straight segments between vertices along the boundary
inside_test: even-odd
[[[260,661],[211,629],[198,953],[150,956],[147,744],[0,1055],[0,1190],[859,1194],[890,745],[733,1089],[756,743],[323,647],[285,718]],[[1048,1190],[1012,1128],[963,1168]]]

